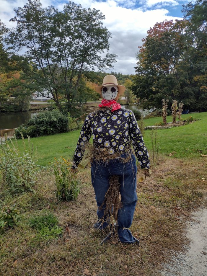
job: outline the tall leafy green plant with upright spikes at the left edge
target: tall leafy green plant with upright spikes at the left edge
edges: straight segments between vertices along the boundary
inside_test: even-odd
[[[6,186],[10,193],[31,191],[32,185],[35,183],[35,168],[37,167],[36,154],[34,154],[33,145],[30,144],[28,137],[28,150],[25,147],[25,141],[22,135],[22,144],[24,151],[20,153],[16,137],[14,135],[14,143],[11,141],[12,147],[9,146],[7,136],[5,142],[1,142],[0,155],[0,171],[2,187]]]

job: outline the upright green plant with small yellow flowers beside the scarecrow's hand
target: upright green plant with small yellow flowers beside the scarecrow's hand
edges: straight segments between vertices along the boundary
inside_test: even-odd
[[[75,200],[79,195],[80,180],[70,171],[71,162],[62,158],[56,160],[54,158],[53,170],[56,179],[58,201]]]

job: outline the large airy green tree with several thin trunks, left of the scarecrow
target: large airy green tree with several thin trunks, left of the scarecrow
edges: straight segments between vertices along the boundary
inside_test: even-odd
[[[116,62],[116,55],[108,53],[111,34],[103,27],[105,17],[100,10],[69,2],[58,11],[29,0],[14,11],[16,16],[10,21],[17,22],[17,27],[10,30],[6,41],[13,51],[27,51],[13,58],[30,80],[30,90],[50,92],[60,110],[63,99],[68,110],[82,102],[80,82],[87,71],[94,66],[100,70],[113,67]]]

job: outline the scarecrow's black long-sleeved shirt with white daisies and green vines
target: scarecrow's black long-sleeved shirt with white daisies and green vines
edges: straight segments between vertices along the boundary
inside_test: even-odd
[[[104,109],[90,113],[85,119],[78,139],[73,168],[77,168],[82,160],[84,144],[89,141],[91,135],[94,146],[108,148],[110,154],[117,151],[124,152],[128,143],[132,143],[141,168],[149,169],[149,153],[131,110],[120,108],[111,112]]]

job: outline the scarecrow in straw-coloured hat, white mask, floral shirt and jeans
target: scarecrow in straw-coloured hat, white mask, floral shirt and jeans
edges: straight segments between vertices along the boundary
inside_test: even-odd
[[[92,136],[91,179],[98,207],[98,220],[94,227],[108,227],[113,215],[118,239],[123,243],[135,243],[136,239],[128,229],[138,199],[136,158],[131,146],[145,177],[150,174],[149,153],[133,112],[116,102],[124,93],[125,86],[118,85],[115,76],[107,75],[95,90],[103,99],[96,111],[87,115],[84,121],[72,169],[78,167]]]

